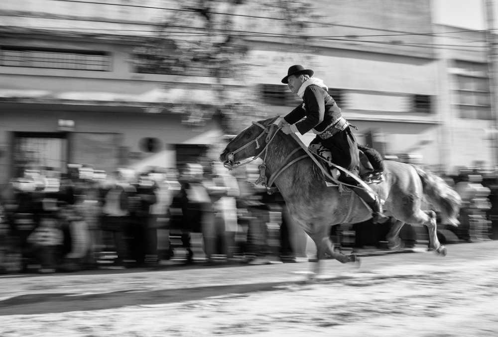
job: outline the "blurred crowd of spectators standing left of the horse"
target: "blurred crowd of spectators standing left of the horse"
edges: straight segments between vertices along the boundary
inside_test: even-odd
[[[57,180],[27,170],[2,191],[0,272],[294,259],[283,199],[238,171],[209,161],[108,175],[71,165]]]

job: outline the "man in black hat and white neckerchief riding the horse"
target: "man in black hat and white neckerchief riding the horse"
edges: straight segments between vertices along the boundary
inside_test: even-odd
[[[311,69],[295,65],[289,68],[282,83],[287,84],[292,93],[303,99],[303,103],[287,114],[278,124],[285,134],[299,132],[304,135],[308,131],[316,134],[309,145],[310,150],[321,147],[330,151],[329,161],[358,175],[360,157],[356,138],[349,122],[342,117],[341,108],[337,105],[322,80],[312,77]],[[304,118],[304,119],[303,119]],[[338,176],[339,175],[339,176]],[[361,179],[346,173],[333,170],[333,176],[340,182],[353,185],[353,190],[372,209],[373,223],[383,223],[388,217],[382,214],[382,201],[371,190],[366,189]]]

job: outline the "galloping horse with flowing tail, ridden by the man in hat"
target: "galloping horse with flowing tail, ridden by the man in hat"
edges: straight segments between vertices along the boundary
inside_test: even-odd
[[[343,263],[359,264],[356,254],[344,255],[335,250],[329,237],[330,227],[367,221],[372,218],[370,208],[351,190],[327,186],[322,170],[310,156],[303,156],[305,150],[298,141],[273,124],[277,118],[252,122],[228,143],[220,162],[228,169],[235,169],[256,158],[263,159],[260,179],[269,178],[269,185],[274,182],[292,219],[317,247],[318,259],[311,277],[319,274],[320,260],[325,254]],[[394,161],[383,164],[384,181],[370,186],[385,201],[384,214],[395,219],[386,236],[390,248],[400,247],[399,231],[405,223],[425,225],[429,248],[445,256],[446,247],[440,244],[436,234],[436,214],[433,210],[422,210],[421,205],[423,200],[428,201],[440,212],[443,224],[458,226],[459,194],[439,176],[415,165]]]

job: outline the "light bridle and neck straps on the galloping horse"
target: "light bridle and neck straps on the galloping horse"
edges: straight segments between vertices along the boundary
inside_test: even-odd
[[[254,140],[250,141],[249,143],[247,143],[243,147],[240,147],[239,149],[231,152],[228,155],[228,162],[224,164],[224,166],[227,169],[230,169],[230,170],[236,169],[238,167],[241,167],[243,165],[247,165],[247,164],[255,161],[256,159],[258,159],[261,156],[261,154],[263,153],[263,151],[266,150],[266,148],[271,143],[271,141],[273,140],[273,138],[275,138],[275,135],[277,134],[278,130],[281,129],[281,127],[278,127],[275,124],[271,124],[269,126],[269,128],[265,127],[264,125],[262,125],[262,124],[260,124],[258,122],[252,122],[252,124],[259,126],[261,129],[263,129],[263,132],[261,132],[261,134],[259,134],[259,136],[257,136]],[[273,130],[275,130],[275,131],[273,132]],[[259,152],[258,155],[252,157],[252,159],[250,159],[249,161],[244,162],[244,163],[241,163],[241,162],[237,162],[236,163],[236,162],[234,162],[234,154],[236,154],[237,152],[242,151],[243,149],[247,148],[252,143],[256,143],[256,149],[259,149],[260,146],[259,146],[258,140],[259,140],[259,138],[261,138],[265,134],[267,134],[266,135],[266,144],[261,149],[261,151]],[[273,174],[271,174],[269,183],[267,183],[268,178],[266,177],[266,164],[265,164],[265,162],[266,162],[266,156],[268,154],[268,151],[266,151],[265,154],[264,154],[263,162],[258,167],[258,169],[259,169],[259,178],[256,181],[254,181],[254,183],[256,185],[259,184],[259,183],[261,183],[262,186],[266,187],[266,190],[267,190],[268,194],[272,194],[277,188],[276,187],[271,187],[271,186],[273,185],[273,182],[275,181],[275,179],[280,175],[280,173],[282,173],[285,169],[287,169],[289,166],[291,166],[295,162],[300,161],[301,159],[304,159],[304,158],[308,157],[308,154],[306,154],[304,156],[301,156],[301,157],[298,157],[298,158],[294,159],[293,161],[291,161],[290,163],[287,163],[285,165],[285,163],[292,157],[292,155],[295,154],[299,150],[302,150],[302,148],[298,147],[298,148],[294,149],[294,151],[292,151],[284,159],[284,161],[283,161],[284,164],[282,164],[279,169],[277,169]]]

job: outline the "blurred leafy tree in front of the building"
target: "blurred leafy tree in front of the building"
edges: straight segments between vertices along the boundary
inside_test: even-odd
[[[244,29],[241,21],[269,20],[280,38],[306,43],[311,26],[312,0],[183,0],[162,20],[157,38],[134,50],[132,62],[139,73],[202,76],[213,78],[218,102],[202,106],[185,102],[173,110],[184,122],[202,125],[215,114],[221,115],[227,132],[236,132],[248,120],[265,117],[265,108],[255,88],[244,88],[245,99],[226,94],[230,85],[241,81],[249,67],[248,54],[254,38],[265,32]],[[241,6],[258,8],[257,13],[241,14]],[[247,25],[246,25],[247,27]],[[271,35],[270,35],[271,36]]]

